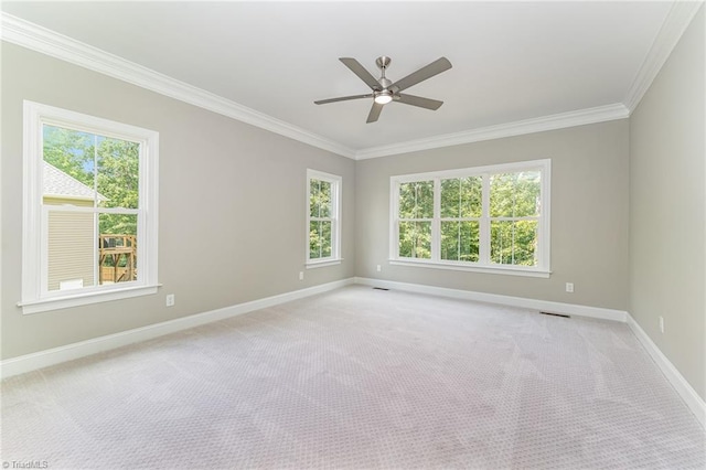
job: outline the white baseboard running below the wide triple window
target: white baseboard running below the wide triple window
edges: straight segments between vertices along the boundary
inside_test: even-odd
[[[445,287],[425,286],[420,284],[397,282],[392,280],[379,280],[364,277],[356,277],[355,284],[365,286],[384,287],[387,289],[405,290],[408,292],[428,293],[431,296],[451,297],[454,299],[475,300],[479,302],[501,303],[504,306],[520,307],[532,310],[539,310],[548,313],[561,313],[577,317],[589,317],[601,320],[613,320],[625,322],[628,312],[624,310],[603,309],[600,307],[578,306],[574,303],[561,303],[549,300],[527,299],[523,297],[501,296],[498,293],[475,292],[472,290],[447,289]]]

